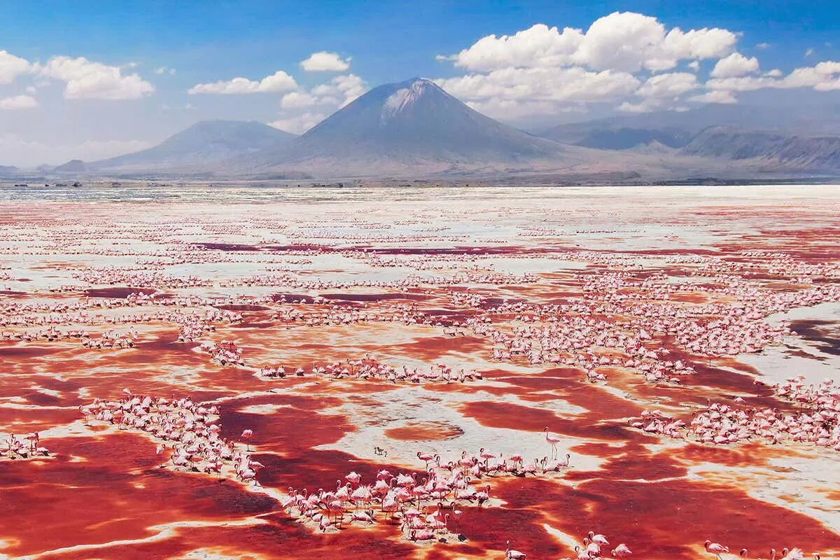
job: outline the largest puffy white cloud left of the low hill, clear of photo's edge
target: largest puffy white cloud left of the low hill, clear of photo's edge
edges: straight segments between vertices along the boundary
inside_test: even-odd
[[[118,66],[93,62],[85,57],[54,56],[37,65],[40,75],[65,81],[67,99],[139,99],[155,91],[137,74],[123,75]]]

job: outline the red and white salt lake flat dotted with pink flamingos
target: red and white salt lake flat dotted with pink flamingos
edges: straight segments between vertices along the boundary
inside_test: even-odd
[[[840,555],[840,191],[149,188],[3,203],[0,556]]]

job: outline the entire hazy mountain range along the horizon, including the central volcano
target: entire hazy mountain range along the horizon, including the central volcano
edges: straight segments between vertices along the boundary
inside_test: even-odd
[[[375,87],[296,136],[206,121],[154,148],[73,160],[74,175],[261,179],[447,177],[535,184],[840,176],[840,105],[708,105],[524,132],[415,78]],[[704,179],[705,180],[705,179]]]

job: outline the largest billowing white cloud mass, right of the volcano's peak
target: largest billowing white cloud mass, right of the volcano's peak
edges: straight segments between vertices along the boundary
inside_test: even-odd
[[[580,110],[612,102],[624,111],[674,106],[700,87],[681,61],[730,55],[738,34],[728,29],[668,29],[657,18],[615,12],[589,29],[536,24],[512,35],[487,35],[455,55],[438,55],[469,73],[437,80],[471,107],[499,118]]]

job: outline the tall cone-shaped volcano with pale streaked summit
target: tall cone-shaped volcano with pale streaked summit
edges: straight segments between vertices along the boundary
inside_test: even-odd
[[[499,123],[418,78],[376,87],[286,146],[241,163],[373,175],[530,167],[539,160],[575,160],[579,151]]]

